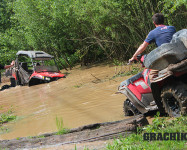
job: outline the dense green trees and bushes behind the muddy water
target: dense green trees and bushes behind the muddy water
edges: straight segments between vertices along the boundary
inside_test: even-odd
[[[187,28],[187,0],[0,0],[0,63],[18,50],[48,52],[61,68],[122,62],[154,29],[157,12],[177,31]]]

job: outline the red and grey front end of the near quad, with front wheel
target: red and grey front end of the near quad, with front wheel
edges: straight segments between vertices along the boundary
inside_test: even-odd
[[[150,88],[149,72],[150,69],[144,69],[144,71],[123,81],[118,87],[118,93],[125,94],[127,97],[123,105],[125,116],[158,110]]]

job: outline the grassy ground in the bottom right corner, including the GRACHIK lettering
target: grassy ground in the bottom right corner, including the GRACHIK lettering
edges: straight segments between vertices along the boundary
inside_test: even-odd
[[[107,150],[186,150],[187,116],[178,118],[155,116],[152,124],[139,128],[137,134],[120,138],[107,146]]]

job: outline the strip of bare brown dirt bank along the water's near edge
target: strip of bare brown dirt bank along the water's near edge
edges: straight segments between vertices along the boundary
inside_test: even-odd
[[[138,126],[147,125],[147,119],[138,115],[129,119],[124,119],[115,122],[96,123],[79,128],[71,129],[68,134],[56,135],[56,133],[43,134],[42,138],[19,138],[13,140],[0,141],[0,148],[13,149],[66,149],[69,144],[87,143],[94,141],[107,141],[119,136],[127,136],[136,132]],[[83,144],[84,145],[84,144]],[[93,146],[93,145],[92,145]],[[55,148],[55,149],[56,149]],[[70,147],[69,147],[70,148]],[[67,148],[67,149],[69,149]],[[73,147],[74,149],[75,147]],[[99,146],[96,149],[100,149]]]

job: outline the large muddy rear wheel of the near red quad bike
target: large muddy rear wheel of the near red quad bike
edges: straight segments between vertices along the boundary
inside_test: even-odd
[[[166,113],[170,117],[187,114],[187,85],[182,82],[173,83],[163,88],[161,98]]]

